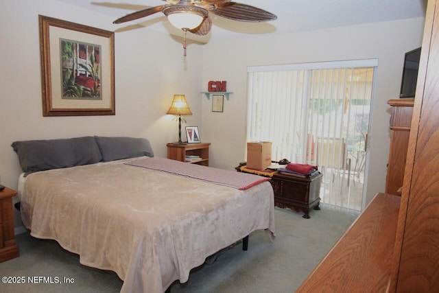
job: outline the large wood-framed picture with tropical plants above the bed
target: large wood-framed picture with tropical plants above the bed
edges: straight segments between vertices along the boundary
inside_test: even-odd
[[[43,116],[115,115],[114,33],[42,15],[38,23]]]

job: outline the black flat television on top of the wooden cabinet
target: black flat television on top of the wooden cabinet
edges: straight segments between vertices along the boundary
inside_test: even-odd
[[[420,60],[420,47],[405,53],[403,80],[399,97],[414,97],[416,92],[416,80],[418,80]]]

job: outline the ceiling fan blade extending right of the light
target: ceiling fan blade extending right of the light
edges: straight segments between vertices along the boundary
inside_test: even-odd
[[[233,19],[234,21],[259,23],[262,21],[274,21],[277,19],[276,15],[262,10],[261,8],[236,2],[217,5],[217,8],[212,12],[218,16],[225,17],[226,19]]]

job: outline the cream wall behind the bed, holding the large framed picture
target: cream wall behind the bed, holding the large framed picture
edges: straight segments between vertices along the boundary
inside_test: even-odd
[[[2,3],[0,17],[0,180],[17,188],[21,169],[10,147],[13,141],[85,135],[147,137],[157,156],[166,143],[178,140],[178,124],[165,115],[176,93],[187,95],[201,127],[202,47],[188,44],[182,56],[181,38],[145,28],[115,34],[115,116],[43,117],[41,106],[38,14],[114,31],[108,16],[91,14],[51,0]],[[183,136],[185,139],[185,136]],[[16,226],[21,226],[15,215]]]

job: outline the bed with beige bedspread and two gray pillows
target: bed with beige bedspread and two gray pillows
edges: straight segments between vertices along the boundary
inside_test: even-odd
[[[270,183],[154,156],[146,139],[16,141],[21,218],[80,263],[112,270],[121,292],[165,292],[206,257],[265,230],[274,240]],[[241,175],[244,175],[241,177]],[[234,178],[234,179],[231,179]]]

